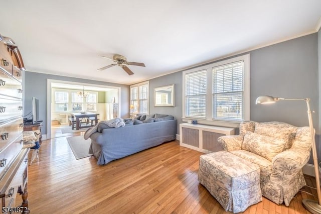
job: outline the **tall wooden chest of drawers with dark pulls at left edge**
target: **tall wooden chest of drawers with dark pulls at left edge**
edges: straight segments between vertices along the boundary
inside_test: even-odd
[[[5,213],[28,209],[28,150],[23,149],[24,63],[18,47],[0,35],[0,204]]]

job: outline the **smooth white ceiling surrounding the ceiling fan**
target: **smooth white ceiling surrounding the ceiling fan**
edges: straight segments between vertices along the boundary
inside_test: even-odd
[[[132,84],[315,33],[320,18],[320,0],[16,0],[0,33],[28,71]],[[114,54],[146,67],[96,71]]]

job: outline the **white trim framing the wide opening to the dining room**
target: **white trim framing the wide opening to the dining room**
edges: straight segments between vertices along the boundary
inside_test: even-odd
[[[96,86],[96,87],[102,87],[102,88],[114,88],[118,89],[118,112],[119,115],[121,115],[121,87],[117,86],[108,86],[108,85],[99,85],[99,84],[91,84],[91,83],[83,83],[83,82],[71,82],[71,81],[63,81],[63,80],[57,80],[57,79],[47,79],[47,135],[46,139],[51,138],[51,100],[52,100],[52,83],[65,83],[65,84],[73,84],[73,85],[84,85],[84,86]]]

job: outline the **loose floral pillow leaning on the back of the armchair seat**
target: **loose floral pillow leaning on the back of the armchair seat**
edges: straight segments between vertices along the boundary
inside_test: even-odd
[[[253,132],[244,135],[242,149],[260,155],[269,161],[284,150],[287,141],[284,139],[271,138]]]

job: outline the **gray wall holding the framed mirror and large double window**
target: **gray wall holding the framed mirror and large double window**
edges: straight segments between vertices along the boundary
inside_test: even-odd
[[[306,103],[304,101],[279,101],[273,105],[256,105],[261,95],[284,98],[309,97],[313,113],[316,139],[319,141],[319,73],[318,52],[321,53],[321,33],[310,34],[275,45],[250,51],[250,108],[251,120],[257,122],[280,121],[294,126],[308,126]],[[244,53],[245,54],[245,53]],[[321,80],[320,80],[321,83]],[[175,84],[175,107],[154,107],[153,88]],[[150,113],[175,116],[182,122],[182,71],[149,80]],[[320,90],[320,91],[319,91]],[[320,100],[321,101],[321,100]],[[321,122],[320,122],[321,123]],[[179,129],[177,131],[179,134]],[[320,149],[318,149],[318,156]]]

